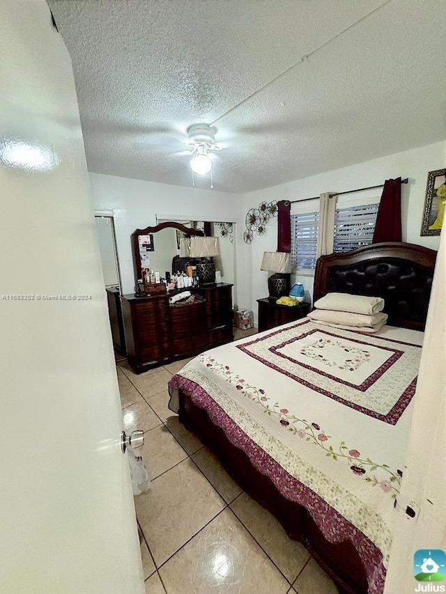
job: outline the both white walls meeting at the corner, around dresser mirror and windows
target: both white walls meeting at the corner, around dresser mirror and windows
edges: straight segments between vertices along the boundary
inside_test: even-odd
[[[321,192],[344,192],[378,185],[401,175],[410,180],[408,185],[401,186],[403,241],[438,249],[439,238],[420,237],[420,228],[427,173],[445,166],[446,141],[443,141],[247,194],[227,194],[215,189],[187,188],[99,173],[90,173],[90,180],[95,210],[114,213],[124,293],[134,290],[130,235],[136,228],[155,225],[157,214],[166,219],[234,222],[237,224],[234,301],[238,308],[254,311],[256,318],[256,299],[268,295],[268,273],[261,272],[261,259],[263,251],[277,249],[277,218],[270,219],[265,235],[255,235],[252,244],[245,244],[243,232],[249,208],[257,208],[262,201],[293,201],[318,196]],[[312,295],[311,276],[295,280],[302,282]]]

